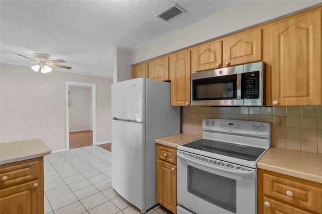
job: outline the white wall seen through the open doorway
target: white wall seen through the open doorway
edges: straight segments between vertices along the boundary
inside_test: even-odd
[[[69,132],[91,129],[92,88],[69,86]]]

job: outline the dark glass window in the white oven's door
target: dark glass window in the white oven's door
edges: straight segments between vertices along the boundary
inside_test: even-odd
[[[216,206],[236,213],[236,180],[188,165],[188,191]]]

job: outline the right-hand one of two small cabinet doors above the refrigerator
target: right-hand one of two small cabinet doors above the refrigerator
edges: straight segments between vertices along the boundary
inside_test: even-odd
[[[169,80],[169,57],[156,59],[148,63],[148,78],[160,81]]]

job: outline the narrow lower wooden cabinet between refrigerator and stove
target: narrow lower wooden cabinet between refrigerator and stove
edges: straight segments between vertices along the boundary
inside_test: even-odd
[[[156,144],[156,200],[177,213],[177,149]]]

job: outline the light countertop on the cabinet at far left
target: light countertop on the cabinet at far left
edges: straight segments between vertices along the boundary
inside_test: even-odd
[[[38,158],[51,153],[40,139],[0,143],[0,164]]]

